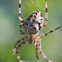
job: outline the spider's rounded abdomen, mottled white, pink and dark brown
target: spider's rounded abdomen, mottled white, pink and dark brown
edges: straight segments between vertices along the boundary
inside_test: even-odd
[[[28,34],[36,34],[43,27],[43,15],[40,11],[34,11],[24,23],[24,29]]]

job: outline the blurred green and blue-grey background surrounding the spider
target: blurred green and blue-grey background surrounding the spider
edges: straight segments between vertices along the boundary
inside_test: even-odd
[[[48,24],[42,30],[50,30],[62,26],[62,0],[47,0]],[[18,0],[0,0],[0,62],[18,62],[12,54],[14,43],[24,37],[20,35],[20,21],[18,20]],[[26,19],[33,11],[41,11],[45,16],[44,0],[22,0],[22,18]],[[62,62],[62,29],[42,38],[42,50],[54,62]],[[46,62],[42,55],[37,60],[35,46],[28,42],[19,49],[22,60],[31,62]]]

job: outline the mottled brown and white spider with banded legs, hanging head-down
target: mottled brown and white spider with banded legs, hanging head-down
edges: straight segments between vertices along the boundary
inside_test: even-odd
[[[54,32],[55,30],[57,30],[59,28],[61,28],[61,26],[56,28],[56,29],[49,31],[46,34],[40,33],[40,30],[42,30],[47,25],[47,22],[48,22],[47,0],[45,0],[45,22],[43,19],[43,15],[40,11],[34,11],[31,15],[29,15],[27,17],[26,20],[23,20],[21,18],[21,0],[19,0],[18,18],[21,22],[20,23],[20,33],[22,35],[25,33],[28,34],[24,38],[18,40],[14,45],[13,54],[17,54],[17,59],[19,60],[19,62],[25,62],[25,61],[22,61],[20,59],[18,49],[20,47],[22,47],[27,41],[29,42],[29,44],[35,45],[35,54],[36,54],[37,59],[39,59],[39,56],[38,56],[38,50],[39,50],[40,54],[43,56],[44,59],[46,59],[47,62],[53,62],[50,59],[48,59],[47,56],[45,56],[45,54],[43,53],[43,51],[41,49],[41,38],[40,38],[40,36],[47,36],[48,34]],[[22,28],[24,29],[24,32],[22,31]]]

